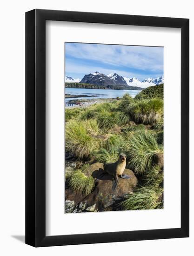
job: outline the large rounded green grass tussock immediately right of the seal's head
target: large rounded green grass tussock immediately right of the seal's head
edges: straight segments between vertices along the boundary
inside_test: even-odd
[[[155,137],[146,131],[134,133],[127,145],[129,166],[137,174],[143,174],[151,168],[155,153],[162,152]]]

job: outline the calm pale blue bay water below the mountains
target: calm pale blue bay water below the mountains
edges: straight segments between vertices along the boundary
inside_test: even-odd
[[[108,98],[116,98],[116,97],[122,97],[124,94],[128,93],[133,98],[135,95],[140,93],[140,91],[136,90],[105,90],[105,89],[82,89],[82,88],[65,88],[66,94],[73,94],[73,95],[96,95],[95,97],[78,97],[76,99],[108,99]],[[65,103],[67,103],[69,100],[72,100],[75,98],[68,98],[66,99]]]

